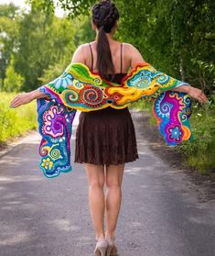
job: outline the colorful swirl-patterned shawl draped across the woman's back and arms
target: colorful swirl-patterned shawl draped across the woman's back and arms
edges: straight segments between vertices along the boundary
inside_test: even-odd
[[[47,96],[37,99],[38,131],[42,136],[39,168],[46,177],[72,170],[70,137],[77,109],[121,109],[138,100],[153,100],[153,113],[167,144],[191,139],[191,99],[185,93],[174,92],[181,85],[188,83],[157,72],[146,62],[138,63],[121,84],[103,80],[84,64],[70,64],[57,79],[38,88]]]

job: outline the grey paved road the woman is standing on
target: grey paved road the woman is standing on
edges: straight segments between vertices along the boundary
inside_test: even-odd
[[[76,123],[77,123],[76,116]],[[140,159],[127,163],[117,224],[120,256],[215,255],[215,204],[204,191],[149,150],[134,113]],[[74,149],[75,128],[72,136]],[[0,256],[93,255],[87,178],[45,178],[38,170],[38,133],[0,159]]]

